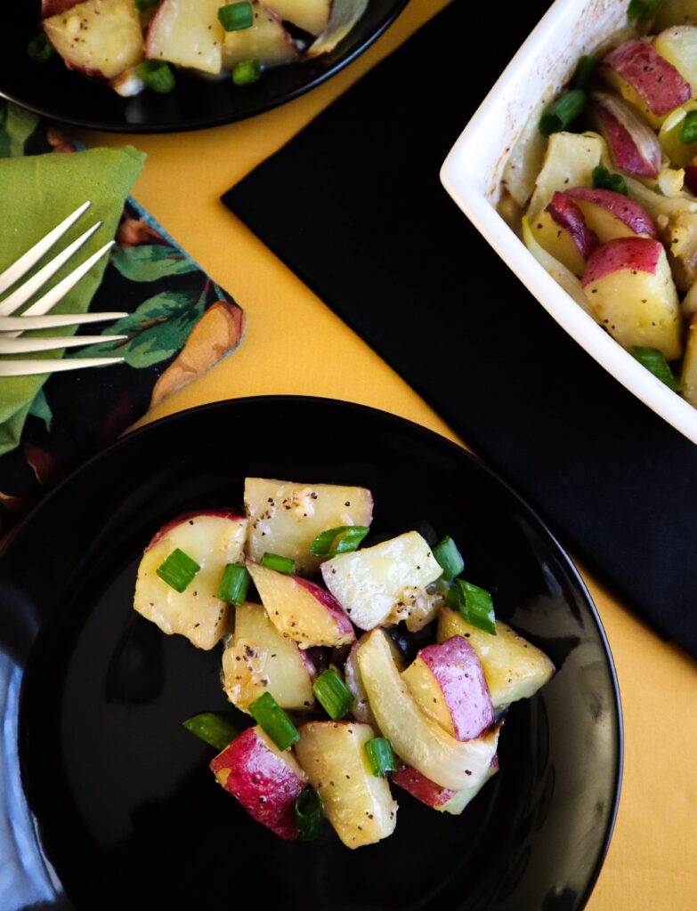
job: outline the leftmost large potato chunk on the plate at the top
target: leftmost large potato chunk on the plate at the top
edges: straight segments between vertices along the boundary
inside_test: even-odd
[[[46,35],[71,69],[113,79],[143,59],[133,0],[84,0],[45,19]]]

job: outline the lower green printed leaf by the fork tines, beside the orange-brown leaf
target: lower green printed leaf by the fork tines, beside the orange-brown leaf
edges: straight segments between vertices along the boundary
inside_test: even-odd
[[[72,357],[124,357],[131,367],[149,367],[166,361],[186,342],[205,308],[203,294],[162,292],[144,301],[132,313],[102,333],[127,335],[120,342],[104,342],[71,354]]]

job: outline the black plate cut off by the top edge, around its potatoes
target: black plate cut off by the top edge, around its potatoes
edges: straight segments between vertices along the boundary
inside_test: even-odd
[[[320,85],[382,35],[407,0],[370,0],[362,18],[330,54],[306,63],[276,67],[259,82],[235,87],[230,79],[210,81],[177,69],[169,95],[144,91],[119,97],[108,86],[81,77],[54,55],[37,65],[26,44],[39,31],[38,0],[13,6],[0,29],[0,95],[47,118],[77,127],[123,133],[168,133],[217,127],[277,107]]]

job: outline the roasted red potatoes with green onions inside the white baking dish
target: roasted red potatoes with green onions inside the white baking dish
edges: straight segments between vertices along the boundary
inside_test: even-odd
[[[499,210],[538,261],[697,407],[697,0],[631,0],[507,161]]]

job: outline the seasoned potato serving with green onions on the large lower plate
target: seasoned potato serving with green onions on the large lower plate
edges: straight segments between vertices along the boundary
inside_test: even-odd
[[[326,819],[346,847],[374,844],[395,831],[392,786],[461,814],[498,771],[508,706],[554,673],[495,618],[452,538],[364,543],[373,506],[364,487],[248,477],[243,514],[172,519],[138,568],[139,614],[220,643],[236,719],[182,723],[217,751],[222,788],[284,839],[312,840]]]

